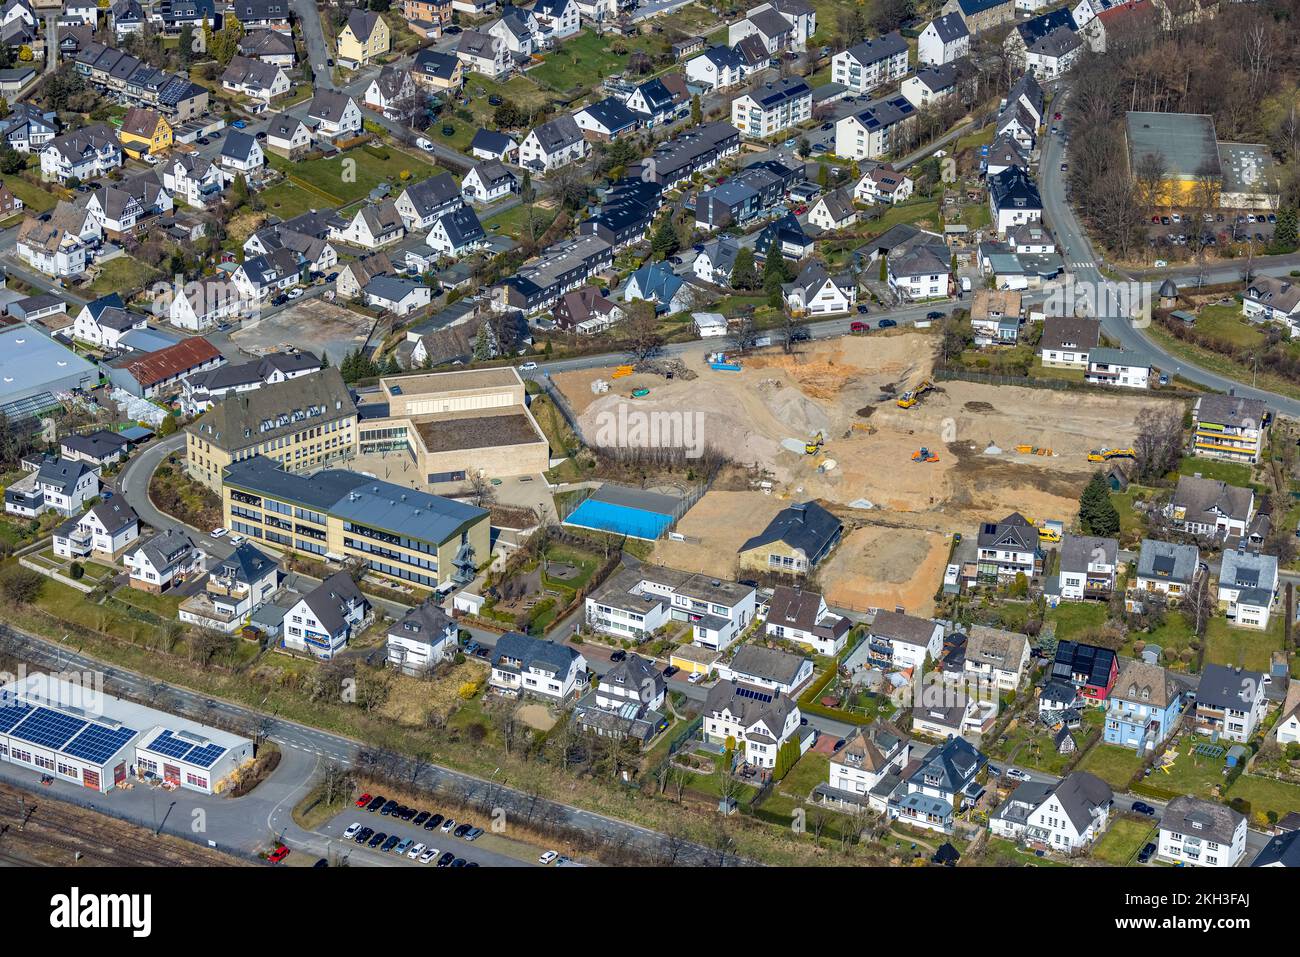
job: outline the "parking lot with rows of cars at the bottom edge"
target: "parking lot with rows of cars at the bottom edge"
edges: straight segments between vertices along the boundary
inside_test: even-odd
[[[538,863],[542,849],[494,832],[491,822],[448,819],[432,806],[406,809],[406,813],[399,815],[391,813],[402,810],[395,801],[382,798],[380,794],[364,797],[370,798],[365,807],[348,807],[318,828],[320,833],[335,841],[333,853],[346,857],[352,866],[542,866]],[[382,804],[374,810],[368,810],[376,805],[377,798]],[[390,813],[385,814],[385,810]],[[354,828],[354,824],[360,827]],[[348,833],[352,836],[347,836]],[[358,841],[358,836],[364,836],[364,840]],[[398,853],[399,848],[402,853]],[[416,849],[419,850],[412,857],[411,852]]]

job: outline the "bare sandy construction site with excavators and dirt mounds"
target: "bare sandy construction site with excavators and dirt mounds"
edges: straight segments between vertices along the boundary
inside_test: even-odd
[[[1089,454],[1130,451],[1139,413],[1171,402],[939,382],[935,346],[916,332],[842,337],[793,355],[686,355],[685,381],[612,368],[554,381],[584,434],[620,406],[697,413],[705,442],[748,469],[748,488],[706,494],[677,523],[686,541],[660,541],[654,560],[716,570],[785,503],[818,499],[846,527],[818,571],[827,599],[923,614],[953,532],[1011,511],[1067,527],[1098,468]]]

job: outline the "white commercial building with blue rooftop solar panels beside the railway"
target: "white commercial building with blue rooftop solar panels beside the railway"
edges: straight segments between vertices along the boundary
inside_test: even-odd
[[[52,675],[0,688],[0,761],[100,793],[133,770],[212,793],[252,754],[247,739]]]

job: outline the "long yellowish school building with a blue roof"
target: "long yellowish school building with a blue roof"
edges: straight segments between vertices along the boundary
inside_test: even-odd
[[[296,475],[261,455],[225,471],[221,510],[229,528],[259,545],[355,558],[424,588],[468,583],[491,555],[485,508],[360,472]]]

